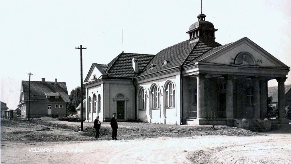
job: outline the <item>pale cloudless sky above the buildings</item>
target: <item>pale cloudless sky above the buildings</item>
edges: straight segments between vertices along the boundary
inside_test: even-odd
[[[189,39],[186,32],[201,12],[200,0],[148,1],[1,1],[1,101],[17,108],[22,80],[80,85],[92,63],[108,64],[124,51],[157,54]],[[291,66],[291,3],[288,0],[203,0],[215,41],[227,44],[248,37]],[[285,84],[291,83],[290,73]],[[276,80],[268,82],[277,85]]]

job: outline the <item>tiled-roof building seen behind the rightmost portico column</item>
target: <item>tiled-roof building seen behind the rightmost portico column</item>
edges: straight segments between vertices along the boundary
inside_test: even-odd
[[[285,106],[291,105],[291,85],[285,85]],[[268,97],[272,97],[272,106],[278,104],[278,86],[268,87]]]

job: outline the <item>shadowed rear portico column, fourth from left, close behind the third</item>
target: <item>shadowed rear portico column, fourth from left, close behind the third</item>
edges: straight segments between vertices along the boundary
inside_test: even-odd
[[[261,118],[268,118],[267,113],[267,98],[268,98],[268,81],[263,79],[260,81],[261,85]]]

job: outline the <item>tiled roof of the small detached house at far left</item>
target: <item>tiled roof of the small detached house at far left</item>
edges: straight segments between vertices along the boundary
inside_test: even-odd
[[[42,81],[30,82],[30,101],[31,102],[69,102],[69,95],[67,85],[65,82],[46,81],[45,84]],[[24,102],[28,102],[29,96],[29,81],[22,81]],[[47,98],[46,93],[56,93],[60,95],[59,98]]]

